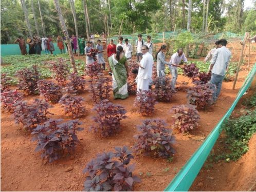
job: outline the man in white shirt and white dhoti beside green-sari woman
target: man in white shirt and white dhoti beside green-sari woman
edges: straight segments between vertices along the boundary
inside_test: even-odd
[[[143,45],[141,48],[143,57],[139,66],[139,72],[137,75],[137,91],[149,90],[149,82],[152,79],[152,70],[154,59],[152,54],[149,53],[147,45]]]

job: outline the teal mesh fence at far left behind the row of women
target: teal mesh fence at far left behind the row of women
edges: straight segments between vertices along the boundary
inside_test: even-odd
[[[61,51],[59,47],[57,46],[57,43],[53,43],[55,50],[53,51],[53,54],[60,54]],[[27,46],[27,52],[29,50],[28,45]],[[1,44],[1,56],[7,56],[7,55],[20,55],[21,50],[19,47],[19,44]],[[45,51],[41,51],[41,54],[45,54]]]

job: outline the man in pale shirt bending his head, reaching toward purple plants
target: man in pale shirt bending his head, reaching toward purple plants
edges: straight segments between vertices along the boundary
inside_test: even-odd
[[[173,91],[175,91],[175,85],[178,78],[177,67],[180,67],[179,64],[181,63],[181,61],[183,61],[184,63],[188,62],[187,57],[183,53],[183,49],[179,48],[177,52],[172,55],[170,60],[171,66],[169,67],[172,74],[171,87]]]

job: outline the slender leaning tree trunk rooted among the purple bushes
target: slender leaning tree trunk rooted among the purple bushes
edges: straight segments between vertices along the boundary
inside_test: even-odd
[[[63,33],[66,37],[66,40],[67,40],[68,54],[69,54],[69,57],[70,57],[71,65],[73,67],[74,73],[77,73],[77,67],[76,67],[76,63],[75,63],[75,60],[74,60],[74,54],[73,54],[73,51],[72,51],[72,47],[71,47],[67,27],[66,27],[63,15],[62,15],[61,8],[60,8],[59,0],[53,0],[53,2],[54,2],[54,5],[55,5],[55,8],[56,8],[56,11],[58,12],[58,15],[59,15],[59,20],[61,22],[62,31],[63,31]]]

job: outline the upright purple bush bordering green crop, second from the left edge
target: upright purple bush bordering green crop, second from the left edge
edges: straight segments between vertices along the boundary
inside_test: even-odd
[[[19,78],[19,89],[24,90],[27,94],[38,94],[39,72],[36,66],[32,69],[22,69],[16,72]]]

